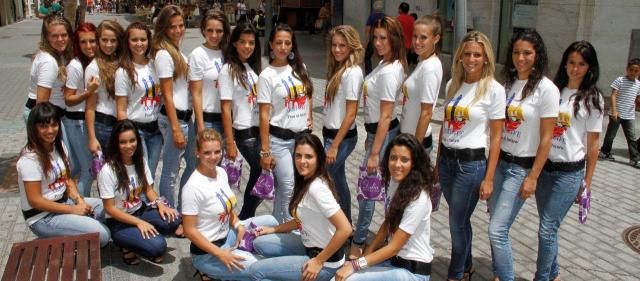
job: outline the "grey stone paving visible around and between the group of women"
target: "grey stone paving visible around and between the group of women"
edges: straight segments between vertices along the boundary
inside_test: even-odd
[[[115,17],[126,25],[129,16],[92,15],[88,20],[95,23],[104,18]],[[15,169],[10,160],[15,159],[25,144],[22,108],[26,100],[30,56],[39,40],[40,22],[27,20],[0,28],[0,191],[15,186],[15,178],[5,175]],[[319,36],[297,33],[298,42],[305,62],[310,69],[315,85],[314,128],[320,134],[322,127],[322,96],[325,84],[325,51]],[[202,42],[197,29],[188,29],[183,49],[191,51]],[[263,42],[264,43],[264,42]],[[607,90],[608,91],[608,90]],[[441,102],[440,102],[441,103]],[[439,104],[440,105],[440,104]],[[433,122],[434,132],[439,132],[442,123],[442,109],[436,108]],[[357,118],[359,142],[348,160],[348,179],[352,191],[355,190],[357,169],[364,154],[365,132],[362,118]],[[639,126],[640,122],[636,122]],[[639,131],[638,129],[636,131]],[[593,179],[592,213],[586,225],[577,222],[577,206],[572,207],[560,230],[561,277],[563,280],[640,280],[640,254],[632,251],[621,240],[622,231],[640,224],[640,170],[627,165],[626,143],[622,133],[614,142],[616,162],[599,162]],[[431,155],[432,157],[435,154]],[[160,169],[158,169],[160,171]],[[244,173],[245,177],[248,173]],[[243,183],[246,182],[246,178]],[[357,215],[357,201],[352,192],[353,214]],[[97,196],[94,188],[94,196]],[[242,200],[242,196],[238,197]],[[376,231],[382,221],[382,206],[377,204],[375,221],[371,226]],[[271,203],[266,202],[258,209],[259,214],[268,214]],[[477,269],[475,280],[490,280],[491,253],[487,237],[488,214],[484,201],[472,218],[475,229],[473,243],[474,265]],[[441,204],[433,213],[431,241],[435,249],[433,280],[446,279],[447,265],[451,250],[448,231],[447,204]],[[355,219],[355,218],[354,218]],[[533,199],[528,200],[520,216],[514,223],[511,238],[517,280],[531,280],[535,272],[537,251],[537,211]],[[372,234],[373,235],[373,234]],[[7,256],[14,242],[33,239],[20,214],[20,203],[16,192],[0,193],[0,270],[7,263]],[[189,258],[189,242],[184,239],[168,238],[169,251],[162,264],[143,261],[138,266],[127,266],[119,250],[109,245],[102,251],[103,279],[111,280],[196,280],[195,270]]]

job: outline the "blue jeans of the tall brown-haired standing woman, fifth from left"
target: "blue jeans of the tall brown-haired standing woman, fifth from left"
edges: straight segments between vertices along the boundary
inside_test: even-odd
[[[189,142],[189,131],[193,129],[192,122],[178,120],[185,141]],[[164,137],[164,145],[162,148],[162,172],[160,173],[160,196],[164,196],[172,207],[176,207],[178,211],[182,211],[180,207],[180,197],[182,194],[183,183],[186,183],[190,174],[182,173],[180,186],[176,188],[176,180],[180,173],[180,160],[185,156],[185,149],[178,149],[173,143],[173,132],[171,123],[164,114],[158,116],[158,126]],[[176,197],[177,193],[177,197]]]

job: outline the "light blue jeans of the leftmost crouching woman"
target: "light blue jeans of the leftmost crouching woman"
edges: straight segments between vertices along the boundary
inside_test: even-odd
[[[93,207],[95,218],[74,214],[49,213],[29,226],[33,234],[39,238],[72,236],[98,232],[100,234],[100,247],[109,243],[111,234],[109,228],[102,224],[104,221],[104,206],[102,200],[97,198],[84,198],[87,205]],[[74,205],[73,200],[68,199],[66,204]]]

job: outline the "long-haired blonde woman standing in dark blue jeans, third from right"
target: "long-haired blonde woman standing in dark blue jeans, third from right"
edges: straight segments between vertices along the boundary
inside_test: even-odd
[[[471,280],[474,273],[471,216],[478,200],[486,200],[493,190],[505,94],[502,85],[494,79],[493,48],[483,33],[469,32],[458,46],[453,61],[444,103],[438,172],[442,193],[449,205],[451,261],[447,278]]]

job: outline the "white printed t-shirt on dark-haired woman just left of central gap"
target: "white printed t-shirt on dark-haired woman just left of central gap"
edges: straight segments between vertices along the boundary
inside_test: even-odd
[[[271,104],[271,125],[294,132],[308,129],[310,99],[290,65],[269,65],[260,73],[258,103]]]

